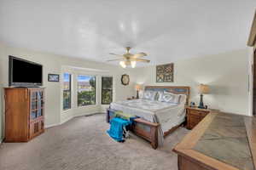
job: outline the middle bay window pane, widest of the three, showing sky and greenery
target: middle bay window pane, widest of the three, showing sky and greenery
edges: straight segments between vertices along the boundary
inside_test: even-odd
[[[96,105],[96,77],[78,76],[78,105]]]

